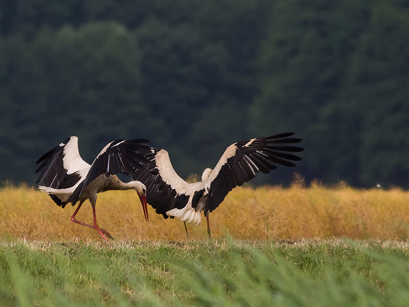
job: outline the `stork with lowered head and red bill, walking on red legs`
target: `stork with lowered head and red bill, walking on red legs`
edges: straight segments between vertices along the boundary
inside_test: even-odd
[[[51,199],[62,208],[67,203],[79,205],[71,216],[71,221],[94,228],[105,241],[113,237],[105,229],[97,225],[95,205],[97,193],[108,190],[137,191],[141,200],[145,219],[148,221],[146,204],[146,187],[139,181],[122,182],[115,174],[134,174],[142,168],[141,162],[147,160],[138,152],[147,149],[141,143],[148,140],[116,140],[108,143],[99,153],[92,165],[82,160],[78,151],[78,138],[65,139],[55,148],[45,153],[36,163],[41,163],[35,172],[41,171],[37,180],[38,188],[50,195]],[[94,225],[77,221],[75,215],[85,200],[89,200],[93,208]]]

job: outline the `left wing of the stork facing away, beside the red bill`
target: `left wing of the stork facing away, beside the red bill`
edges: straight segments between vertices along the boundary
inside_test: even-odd
[[[167,211],[186,206],[189,195],[195,193],[196,185],[178,176],[165,149],[149,148],[142,150],[141,154],[148,159],[148,163],[142,163],[145,170],[135,173],[133,179],[145,184],[148,204],[157,214],[168,218]]]

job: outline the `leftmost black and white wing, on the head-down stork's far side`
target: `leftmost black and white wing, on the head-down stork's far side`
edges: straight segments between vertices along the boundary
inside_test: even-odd
[[[80,156],[77,137],[65,139],[58,146],[44,153],[36,163],[41,163],[35,171],[41,172],[36,184],[54,189],[75,186],[85,178],[91,167]]]

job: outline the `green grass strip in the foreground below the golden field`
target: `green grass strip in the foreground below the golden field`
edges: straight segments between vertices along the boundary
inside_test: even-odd
[[[1,306],[407,306],[409,244],[2,243]]]

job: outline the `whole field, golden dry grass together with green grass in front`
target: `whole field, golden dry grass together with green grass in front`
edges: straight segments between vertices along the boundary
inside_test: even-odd
[[[144,222],[99,195],[106,244],[48,195],[0,189],[0,306],[407,306],[409,193],[294,184],[233,190],[206,222]],[[77,215],[91,222],[89,204]],[[343,239],[341,239],[343,238]]]

